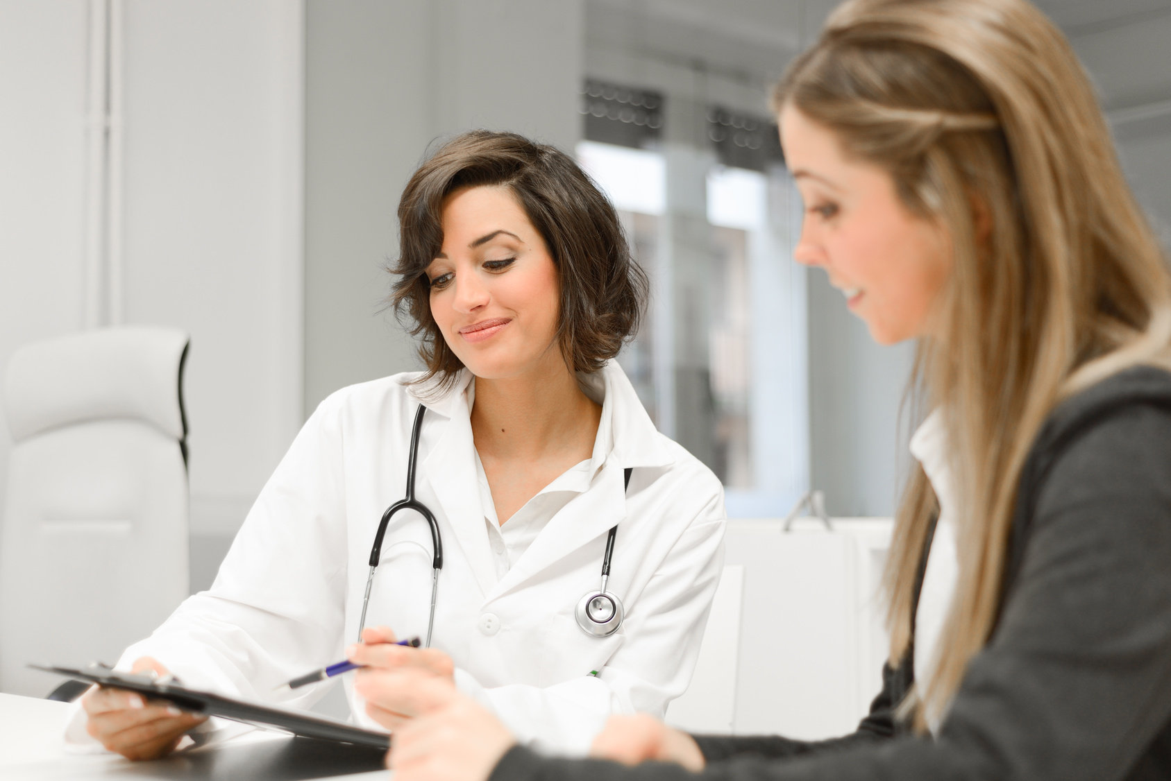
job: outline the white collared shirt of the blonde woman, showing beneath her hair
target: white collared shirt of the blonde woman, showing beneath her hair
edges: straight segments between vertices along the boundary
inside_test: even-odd
[[[956,557],[956,495],[952,481],[951,451],[940,410],[933,410],[911,437],[911,454],[923,465],[939,500],[939,520],[927,554],[919,607],[915,614],[915,680],[923,691],[936,674],[939,637],[951,610],[959,577]],[[946,710],[946,708],[945,708]],[[932,734],[938,732],[943,715],[927,717]]]

